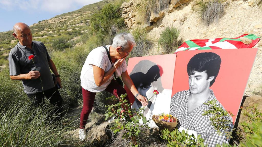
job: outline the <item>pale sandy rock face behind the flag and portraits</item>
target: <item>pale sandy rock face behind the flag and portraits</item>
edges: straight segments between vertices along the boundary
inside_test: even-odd
[[[141,1],[134,0],[123,3],[121,7],[123,8],[122,17],[125,19],[127,27],[131,30],[135,27],[148,27],[151,29],[149,36],[155,40],[155,48],[152,50],[157,50],[160,32],[168,26],[179,29],[180,37],[183,37],[184,41],[222,37],[234,38],[245,33],[262,37],[262,9],[255,4],[254,0],[224,0],[224,15],[217,24],[212,23],[209,26],[206,26],[201,20],[199,0],[171,0],[166,10],[159,12],[159,14],[151,13],[151,25],[143,24],[143,18],[139,15],[137,7],[140,3]],[[259,48],[259,50],[245,95],[252,95],[252,92],[257,91],[262,83],[262,41],[254,48]]]

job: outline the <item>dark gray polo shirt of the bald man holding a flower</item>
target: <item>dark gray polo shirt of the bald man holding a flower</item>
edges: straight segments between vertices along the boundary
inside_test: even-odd
[[[51,58],[45,45],[39,41],[32,41],[32,50],[28,47],[22,46],[19,42],[13,49],[11,49],[8,57],[10,76],[17,76],[28,73],[29,71],[36,71],[33,61],[28,59],[30,55],[34,55],[35,66],[41,73],[43,90],[45,91],[53,88],[54,82],[48,65],[48,61],[50,61]],[[23,80],[25,93],[34,94],[36,92],[42,92],[40,83],[40,78]]]

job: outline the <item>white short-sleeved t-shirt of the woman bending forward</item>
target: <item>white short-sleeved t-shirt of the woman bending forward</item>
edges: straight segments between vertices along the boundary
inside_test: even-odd
[[[106,46],[109,50],[110,45]],[[93,49],[87,56],[85,60],[85,64],[82,68],[80,80],[81,86],[90,92],[101,92],[106,89],[106,87],[110,84],[111,80],[114,78],[114,74],[103,83],[100,87],[95,84],[93,65],[100,67],[101,69],[107,72],[112,68],[114,63],[110,63],[106,49],[104,47],[98,47]],[[116,77],[121,76],[122,72],[127,71],[127,64],[125,61],[121,65],[119,65],[115,71]]]

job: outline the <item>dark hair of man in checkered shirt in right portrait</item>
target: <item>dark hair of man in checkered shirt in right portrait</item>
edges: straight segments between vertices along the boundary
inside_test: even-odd
[[[206,71],[208,77],[214,76],[210,86],[215,82],[220,70],[221,58],[216,53],[205,52],[195,54],[187,64],[188,75],[194,75],[195,71]]]

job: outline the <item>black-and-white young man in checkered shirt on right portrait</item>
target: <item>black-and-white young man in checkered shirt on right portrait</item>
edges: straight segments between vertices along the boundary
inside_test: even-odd
[[[210,89],[219,74],[221,58],[216,53],[204,52],[195,54],[187,64],[189,90],[177,92],[171,98],[170,114],[177,117],[182,129],[188,129],[193,134],[201,135],[208,146],[217,143],[228,143],[225,135],[216,132],[208,116],[203,116],[209,106],[203,104],[211,100],[217,100]],[[217,100],[217,106],[224,107]],[[230,120],[233,129],[232,117]]]

